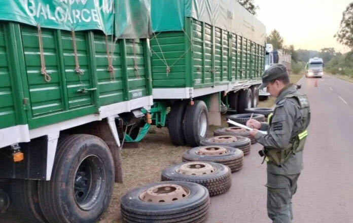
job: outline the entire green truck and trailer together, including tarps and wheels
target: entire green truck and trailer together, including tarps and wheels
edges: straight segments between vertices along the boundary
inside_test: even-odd
[[[265,34],[233,0],[2,4],[0,213],[96,222],[122,182],[121,139],[156,125],[198,145],[222,107],[256,106]]]

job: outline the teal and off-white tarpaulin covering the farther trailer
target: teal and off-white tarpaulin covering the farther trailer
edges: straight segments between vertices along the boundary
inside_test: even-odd
[[[184,30],[185,17],[265,44],[265,26],[235,0],[151,0],[154,32]]]

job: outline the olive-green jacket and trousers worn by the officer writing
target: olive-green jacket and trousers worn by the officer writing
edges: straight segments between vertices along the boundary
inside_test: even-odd
[[[301,106],[296,96],[300,96],[296,86],[283,88],[275,101],[270,122],[261,123],[260,130],[267,130],[268,134],[257,133],[255,139],[264,145],[265,151],[284,150],[303,129]],[[305,139],[301,146],[304,143]],[[267,162],[267,211],[273,223],[292,222],[292,196],[297,190],[297,180],[302,169],[302,151],[291,153],[280,165]]]

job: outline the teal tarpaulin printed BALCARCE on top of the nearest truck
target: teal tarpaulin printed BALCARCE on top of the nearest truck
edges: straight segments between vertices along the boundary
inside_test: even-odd
[[[150,0],[7,0],[0,20],[138,39],[150,37],[150,9]]]

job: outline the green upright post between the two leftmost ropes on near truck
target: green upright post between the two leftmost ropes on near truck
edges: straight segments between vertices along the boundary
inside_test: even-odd
[[[55,30],[55,48],[57,52],[57,58],[58,58],[58,75],[59,75],[59,81],[60,81],[60,87],[61,87],[61,92],[62,92],[62,103],[64,104],[64,109],[68,110],[69,105],[68,105],[68,95],[67,95],[67,89],[66,89],[66,74],[65,74],[65,63],[64,63],[64,51],[62,49],[62,42],[61,42],[61,30],[56,29]]]

